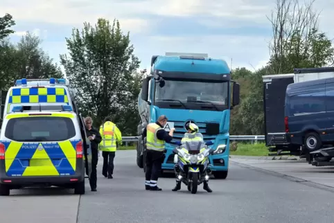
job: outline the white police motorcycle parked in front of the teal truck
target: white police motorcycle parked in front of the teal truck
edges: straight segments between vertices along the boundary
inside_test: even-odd
[[[209,181],[209,175],[212,172],[211,164],[209,164],[209,155],[218,154],[218,150],[224,148],[220,147],[217,150],[209,148],[208,145],[213,145],[211,141],[205,143],[193,141],[184,144],[177,141],[175,144],[179,145],[173,150],[175,154],[175,177],[184,183],[191,193],[195,194],[197,193],[198,185],[204,181]]]

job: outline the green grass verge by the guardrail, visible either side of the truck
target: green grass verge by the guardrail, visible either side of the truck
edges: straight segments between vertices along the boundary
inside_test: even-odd
[[[117,150],[136,150],[134,145],[121,146]],[[268,155],[268,148],[265,143],[238,143],[238,149],[234,152],[230,151],[229,154],[236,156],[256,156],[266,157]]]

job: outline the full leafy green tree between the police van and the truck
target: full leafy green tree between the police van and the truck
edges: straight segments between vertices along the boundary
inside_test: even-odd
[[[84,23],[66,38],[68,55],[60,55],[61,64],[73,88],[78,90],[77,102],[82,114],[93,116],[97,125],[112,115],[118,124],[124,118],[130,99],[135,100],[139,59],[130,45],[130,33],[123,35],[119,22],[112,26],[98,19],[95,26]],[[133,128],[133,126],[132,126]],[[122,130],[122,127],[121,127]],[[123,129],[124,130],[124,129]]]

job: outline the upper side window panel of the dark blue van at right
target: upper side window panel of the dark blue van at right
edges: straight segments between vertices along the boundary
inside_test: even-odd
[[[326,111],[325,91],[299,93],[290,96],[290,115],[303,113],[317,113]]]

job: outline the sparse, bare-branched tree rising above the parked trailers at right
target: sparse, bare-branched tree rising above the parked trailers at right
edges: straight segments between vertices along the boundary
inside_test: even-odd
[[[333,64],[331,40],[319,31],[319,14],[313,10],[314,2],[300,6],[298,0],[276,0],[276,10],[270,19],[272,73],[292,73],[294,68]]]

